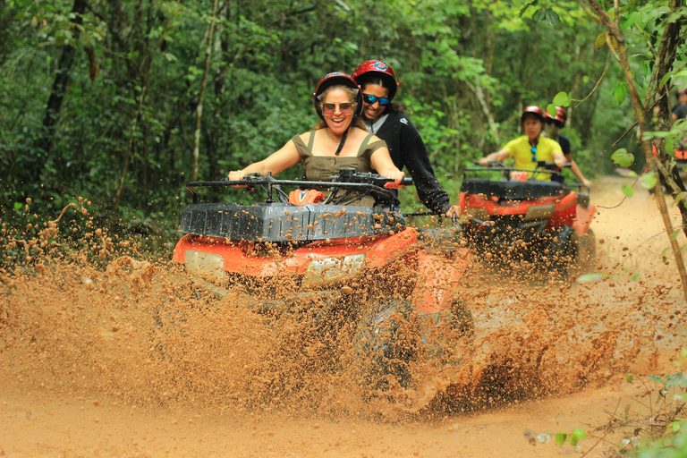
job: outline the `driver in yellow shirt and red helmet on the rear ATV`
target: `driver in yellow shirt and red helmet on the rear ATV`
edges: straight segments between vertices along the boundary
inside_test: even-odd
[[[520,117],[522,130],[525,135],[511,140],[505,147],[491,153],[487,157],[479,159],[480,165],[488,165],[493,161],[504,161],[508,157],[514,157],[515,168],[531,170],[537,167],[539,161],[553,162],[559,167],[565,165],[565,157],[561,145],[555,140],[541,136],[544,128],[544,112],[539,106],[528,106],[522,111]],[[532,178],[532,173],[528,178]],[[551,180],[551,174],[536,174],[535,180]]]

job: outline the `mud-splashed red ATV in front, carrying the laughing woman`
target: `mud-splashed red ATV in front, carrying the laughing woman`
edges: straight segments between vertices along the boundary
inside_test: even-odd
[[[363,384],[412,389],[413,361],[455,360],[455,351],[442,351],[445,344],[471,334],[470,310],[455,294],[469,257],[457,248],[456,229],[423,233],[396,212],[356,205],[376,194],[397,204],[389,184],[350,169],[331,182],[258,175],[190,182],[193,203],[182,212],[185,235],[174,260],[215,290],[241,284],[254,293],[248,305],[259,313],[278,318],[305,310],[324,327],[347,322],[357,328],[352,345]],[[198,202],[196,188],[239,186],[262,188],[267,199]],[[288,187],[298,189],[287,194]],[[437,242],[442,250],[430,248]]]

